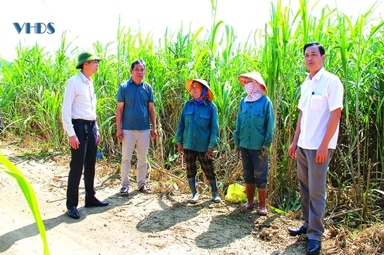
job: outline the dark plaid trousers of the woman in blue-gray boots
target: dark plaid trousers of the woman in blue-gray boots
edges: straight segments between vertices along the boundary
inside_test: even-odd
[[[194,178],[197,175],[196,160],[199,159],[205,177],[208,181],[216,180],[216,173],[213,170],[212,159],[206,158],[206,152],[197,152],[195,150],[184,149],[184,159],[187,166],[187,178]]]

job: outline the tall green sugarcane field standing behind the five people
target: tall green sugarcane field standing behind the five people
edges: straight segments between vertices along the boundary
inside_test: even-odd
[[[328,175],[327,222],[354,227],[383,218],[384,22],[372,17],[376,5],[352,19],[327,7],[315,17],[304,0],[295,13],[277,0],[271,4],[271,21],[265,30],[256,30],[249,41],[238,42],[232,27],[216,21],[217,2],[211,3],[213,22],[206,34],[203,27],[174,34],[167,30],[162,39],[154,41],[151,34],[135,34],[119,25],[115,42],[94,43],[93,50],[103,58],[94,85],[106,159],[118,162],[120,157],[115,120],[118,85],[129,79],[130,63],[143,58],[146,81],[154,86],[159,125],[159,138],[151,143],[151,164],[185,177],[173,143],[182,105],[190,98],[184,83],[196,77],[207,79],[221,125],[215,165],[221,187],[226,187],[233,181],[233,130],[237,104],[244,96],[237,76],[256,70],[266,80],[276,118],[268,202],[283,211],[299,209],[296,164],[289,159],[287,148],[298,117],[299,86],[306,77],[302,47],[318,41],[326,47],[326,69],[337,74],[345,86],[339,146]],[[221,30],[223,34],[218,33]],[[61,102],[66,80],[78,72],[79,51],[72,43],[64,34],[54,53],[39,45],[18,45],[16,60],[8,65],[3,60],[0,95],[6,95],[1,102],[5,133],[35,136],[44,143],[43,150],[68,150]],[[241,176],[237,178],[241,180]]]

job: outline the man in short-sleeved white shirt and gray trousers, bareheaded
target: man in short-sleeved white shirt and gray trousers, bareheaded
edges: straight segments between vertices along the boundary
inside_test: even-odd
[[[309,74],[301,87],[299,118],[288,150],[297,158],[302,218],[299,228],[288,228],[290,235],[306,233],[306,254],[318,254],[324,233],[326,177],[331,150],[336,148],[343,87],[340,79],[323,68],[324,46],[311,42],[304,46],[304,62]]]

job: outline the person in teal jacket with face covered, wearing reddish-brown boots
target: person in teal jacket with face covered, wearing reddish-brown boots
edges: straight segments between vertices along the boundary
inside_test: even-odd
[[[236,130],[233,133],[235,150],[241,150],[244,182],[247,192],[245,209],[254,205],[254,192],[259,192],[259,214],[266,215],[268,184],[268,152],[273,140],[275,117],[271,100],[259,72],[242,74],[238,80],[247,91],[240,100]]]

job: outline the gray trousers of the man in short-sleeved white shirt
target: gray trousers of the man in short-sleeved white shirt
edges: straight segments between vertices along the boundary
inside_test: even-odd
[[[302,218],[308,239],[321,241],[326,211],[326,178],[330,150],[326,162],[316,163],[317,150],[297,147],[297,178],[302,202]]]

